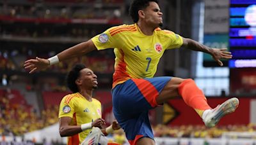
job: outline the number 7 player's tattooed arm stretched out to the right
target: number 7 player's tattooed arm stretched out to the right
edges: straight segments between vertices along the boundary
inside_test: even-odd
[[[212,55],[212,59],[214,59],[220,66],[223,66],[223,63],[220,59],[232,59],[231,52],[227,52],[227,48],[210,48],[208,46],[202,45],[193,39],[182,38],[183,46],[190,50],[195,50],[198,52],[205,52]]]

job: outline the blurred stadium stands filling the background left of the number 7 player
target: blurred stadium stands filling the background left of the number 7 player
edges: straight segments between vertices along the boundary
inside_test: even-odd
[[[105,73],[100,79],[101,87],[111,87],[114,63],[111,51],[70,60],[52,66],[52,72],[31,77],[26,75],[23,63],[35,56],[51,57],[111,25],[121,24],[122,3],[120,0],[0,2],[0,74],[6,81],[0,87],[1,143],[13,141],[10,139],[13,136],[21,141],[19,136],[58,122],[58,105],[69,93],[63,80],[73,64],[82,62],[97,74]]]

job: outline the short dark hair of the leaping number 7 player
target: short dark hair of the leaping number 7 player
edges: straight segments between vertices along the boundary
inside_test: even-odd
[[[149,6],[149,2],[156,2],[158,4],[158,0],[134,0],[131,3],[129,8],[129,15],[132,17],[134,23],[137,23],[139,20],[139,10],[143,10]]]

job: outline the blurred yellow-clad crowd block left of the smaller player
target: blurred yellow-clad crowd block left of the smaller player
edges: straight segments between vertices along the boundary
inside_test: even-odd
[[[41,128],[53,125],[58,121],[58,106],[45,108],[41,116],[37,116],[33,107],[24,100],[14,102],[12,92],[1,90],[0,96],[0,135],[24,135]],[[20,103],[24,102],[24,103]]]

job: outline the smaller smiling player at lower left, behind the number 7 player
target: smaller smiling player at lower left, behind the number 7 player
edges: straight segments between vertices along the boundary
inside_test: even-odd
[[[68,137],[68,145],[78,145],[91,132],[92,127],[102,128],[101,104],[92,97],[98,88],[97,76],[83,64],[76,64],[67,75],[67,86],[73,92],[63,97],[59,110],[61,137]],[[120,129],[115,120],[112,125],[102,129],[104,135]],[[95,137],[97,138],[97,137]]]

